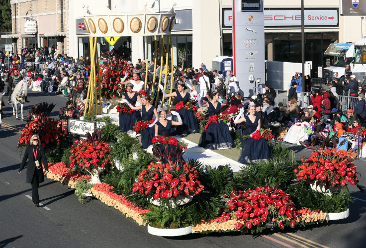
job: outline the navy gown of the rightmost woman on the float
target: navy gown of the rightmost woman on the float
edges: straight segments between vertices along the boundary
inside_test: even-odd
[[[248,135],[256,131],[260,116],[256,116],[256,120],[252,122],[248,115],[245,115],[245,129],[243,135]],[[265,138],[255,140],[248,138],[242,140],[242,151],[238,162],[241,164],[254,163],[258,160],[267,160],[272,157],[272,149],[268,145]]]

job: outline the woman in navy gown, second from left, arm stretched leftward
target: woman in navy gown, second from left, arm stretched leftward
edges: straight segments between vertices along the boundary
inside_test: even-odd
[[[142,148],[146,149],[153,144],[152,139],[155,135],[155,124],[159,121],[159,115],[156,107],[151,104],[151,98],[149,95],[142,95],[141,100],[142,105],[132,108],[134,110],[141,110],[141,121],[151,121],[152,119],[154,119],[153,117],[155,116],[154,123],[149,124],[148,128],[143,129],[141,132]]]

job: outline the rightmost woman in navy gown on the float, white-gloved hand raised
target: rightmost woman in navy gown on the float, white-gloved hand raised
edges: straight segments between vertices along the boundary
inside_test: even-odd
[[[256,116],[256,106],[249,105],[249,115],[243,115],[244,108],[240,109],[234,124],[245,122],[243,135],[250,135],[261,129],[261,117]],[[252,138],[242,139],[242,151],[238,162],[241,164],[255,163],[258,160],[267,160],[272,157],[272,150],[265,138],[255,140]]]

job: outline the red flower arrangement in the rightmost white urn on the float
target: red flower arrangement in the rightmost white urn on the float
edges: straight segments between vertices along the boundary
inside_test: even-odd
[[[307,182],[322,181],[326,189],[330,186],[345,187],[347,182],[356,185],[364,191],[358,184],[356,166],[353,158],[348,157],[346,152],[336,152],[335,149],[324,151],[312,151],[311,157],[301,159],[302,164],[295,169],[296,180]]]

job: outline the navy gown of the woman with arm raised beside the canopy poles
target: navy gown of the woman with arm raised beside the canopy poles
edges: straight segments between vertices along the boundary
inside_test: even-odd
[[[184,104],[188,102],[190,96],[189,93],[185,93],[184,97],[182,97],[179,91],[176,91],[176,93],[177,97],[174,99],[174,102],[179,103],[183,101]],[[198,123],[192,110],[181,108],[177,110],[177,112],[181,116],[183,124],[173,128],[173,130],[175,129],[176,134],[195,134],[199,132]],[[178,121],[177,116],[173,115],[172,120]]]

